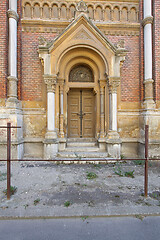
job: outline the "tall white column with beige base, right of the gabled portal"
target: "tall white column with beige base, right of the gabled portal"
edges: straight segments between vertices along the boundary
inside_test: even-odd
[[[152,0],[144,0],[143,5],[143,26],[144,26],[144,107],[152,109],[155,107],[153,100],[153,79],[152,79]]]

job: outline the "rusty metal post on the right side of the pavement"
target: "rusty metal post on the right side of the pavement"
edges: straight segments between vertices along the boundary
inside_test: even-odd
[[[144,179],[144,195],[148,196],[148,129],[149,126],[145,125],[145,179]]]

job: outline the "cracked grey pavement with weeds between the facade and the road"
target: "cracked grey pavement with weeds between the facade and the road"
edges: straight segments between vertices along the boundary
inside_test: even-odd
[[[17,192],[7,201],[6,163],[1,162],[0,218],[159,215],[160,165],[150,163],[149,197],[144,198],[139,163],[13,162],[11,185]]]

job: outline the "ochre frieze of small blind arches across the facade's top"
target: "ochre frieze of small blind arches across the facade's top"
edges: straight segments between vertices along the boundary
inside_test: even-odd
[[[23,18],[71,20],[77,2],[31,1],[22,2]],[[86,2],[89,18],[94,21],[138,22],[138,5]]]

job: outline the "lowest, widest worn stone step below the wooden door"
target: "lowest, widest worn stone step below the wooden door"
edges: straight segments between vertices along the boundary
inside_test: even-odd
[[[58,152],[58,158],[97,158],[97,159],[104,159],[108,158],[107,152]]]

